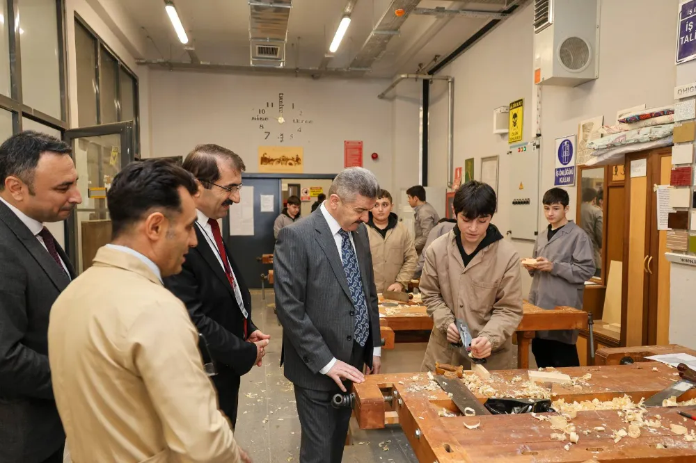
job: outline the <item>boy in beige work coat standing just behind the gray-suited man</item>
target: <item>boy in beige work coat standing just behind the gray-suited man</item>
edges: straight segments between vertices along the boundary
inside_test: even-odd
[[[372,269],[377,293],[385,289],[404,291],[416,270],[418,254],[406,226],[392,212],[394,203],[387,190],[379,190],[377,203],[367,221]]]

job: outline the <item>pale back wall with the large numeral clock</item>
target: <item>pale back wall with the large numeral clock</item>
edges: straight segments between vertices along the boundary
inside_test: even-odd
[[[151,154],[185,155],[200,143],[217,143],[242,156],[247,172],[258,172],[259,146],[301,146],[303,173],[327,174],[342,170],[344,140],[363,140],[363,167],[383,188],[407,188],[418,178],[412,172],[418,162],[418,105],[377,99],[388,83],[150,70]],[[283,124],[275,119],[280,92]],[[271,102],[274,108],[267,107]],[[260,109],[269,120],[252,120]],[[295,117],[313,122],[294,124]],[[395,135],[395,126],[403,138]],[[377,161],[370,158],[373,152]]]

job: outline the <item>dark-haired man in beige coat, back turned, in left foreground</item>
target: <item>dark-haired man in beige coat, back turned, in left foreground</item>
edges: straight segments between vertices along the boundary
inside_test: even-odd
[[[161,282],[196,245],[197,190],[168,161],[127,165],[107,194],[112,243],[52,308],[49,362],[74,462],[249,461],[186,307]]]

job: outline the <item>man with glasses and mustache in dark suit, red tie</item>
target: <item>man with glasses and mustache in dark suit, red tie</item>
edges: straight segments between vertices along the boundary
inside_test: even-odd
[[[271,336],[251,320],[251,295],[235,259],[223,243],[218,219],[239,203],[244,161],[218,145],[198,145],[183,168],[199,183],[194,197],[198,245],[186,257],[182,273],[164,279],[165,286],[186,304],[193,324],[203,334],[216,366],[213,382],[220,409],[237,423],[239,382],[256,364],[261,366]]]

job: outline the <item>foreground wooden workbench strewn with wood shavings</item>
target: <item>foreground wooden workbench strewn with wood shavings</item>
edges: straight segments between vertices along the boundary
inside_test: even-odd
[[[653,370],[656,368],[656,371]],[[574,400],[611,400],[625,394],[637,403],[661,391],[674,381],[676,371],[656,362],[622,366],[585,366],[578,368],[559,368],[559,371],[582,377],[592,375],[580,388],[572,385],[544,384],[548,393],[556,394],[552,400],[563,398],[566,403]],[[519,388],[511,383],[513,377],[527,379],[526,370],[491,372],[489,385],[496,389],[497,396],[514,395],[512,390]],[[461,381],[461,380],[456,380]],[[430,384],[432,390],[417,390],[419,386]],[[518,380],[519,384],[519,380]],[[433,387],[434,385],[434,387]],[[570,422],[576,426],[580,435],[578,444],[565,450],[568,441],[551,439],[551,425],[539,421],[531,414],[461,416],[457,407],[436,383],[431,382],[426,373],[399,373],[391,375],[372,375],[365,382],[355,384],[356,407],[354,412],[358,424],[363,429],[383,428],[385,413],[395,410],[398,421],[409,439],[413,452],[423,463],[644,463],[696,462],[696,442],[689,442],[670,430],[670,424],[695,427],[693,421],[685,422],[677,414],[677,408],[651,408],[644,419],[661,416],[661,427],[642,428],[640,437],[624,437],[615,444],[614,430],[628,430],[617,410],[578,412]],[[385,395],[393,396],[389,405]],[[487,398],[475,393],[481,402]],[[696,397],[692,390],[681,396],[680,400]],[[457,416],[440,416],[443,409],[455,412]],[[696,407],[679,408],[693,413]],[[549,414],[551,415],[551,414]],[[477,429],[468,430],[464,423]],[[605,430],[596,431],[595,427]],[[583,431],[590,430],[589,434]],[[665,448],[657,448],[662,444]]]

